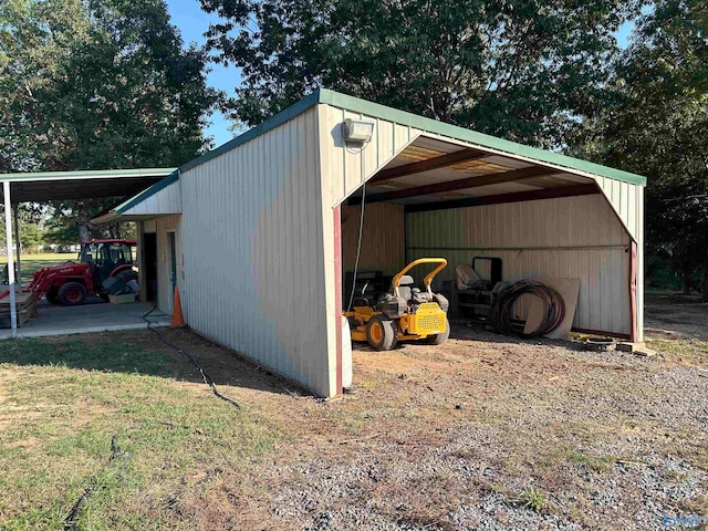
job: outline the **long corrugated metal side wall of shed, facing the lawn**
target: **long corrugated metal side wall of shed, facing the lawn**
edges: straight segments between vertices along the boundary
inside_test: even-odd
[[[183,306],[197,332],[329,396],[317,125],[315,106],[183,173]]]

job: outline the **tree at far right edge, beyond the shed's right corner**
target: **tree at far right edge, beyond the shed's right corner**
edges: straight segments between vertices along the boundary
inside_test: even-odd
[[[647,251],[667,258],[685,292],[698,268],[708,301],[708,6],[658,0],[616,64],[614,105],[580,144],[646,175]]]

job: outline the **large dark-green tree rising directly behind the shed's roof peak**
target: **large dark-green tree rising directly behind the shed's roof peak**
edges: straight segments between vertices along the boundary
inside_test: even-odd
[[[201,0],[256,124],[316,86],[540,146],[602,101],[634,0]]]

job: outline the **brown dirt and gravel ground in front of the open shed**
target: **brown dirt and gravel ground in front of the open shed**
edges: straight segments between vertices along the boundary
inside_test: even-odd
[[[648,306],[649,337],[706,348],[706,306]],[[589,353],[460,322],[440,347],[356,350],[357,392],[323,402],[169,334],[279,434],[246,469],[181,478],[169,507],[146,500],[196,529],[631,530],[708,516],[700,356]],[[179,358],[175,371],[199,379]]]

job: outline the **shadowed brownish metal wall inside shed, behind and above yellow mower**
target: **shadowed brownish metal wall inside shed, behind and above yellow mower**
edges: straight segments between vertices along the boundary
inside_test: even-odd
[[[356,262],[356,246],[361,207],[342,207],[342,264],[344,271],[353,271]],[[405,266],[404,207],[385,202],[367,205],[364,210],[362,251],[358,270],[382,270],[396,274]]]

